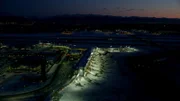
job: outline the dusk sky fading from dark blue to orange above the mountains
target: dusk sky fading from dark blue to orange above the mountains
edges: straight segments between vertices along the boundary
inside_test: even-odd
[[[0,12],[39,17],[100,14],[180,18],[180,0],[0,0]]]

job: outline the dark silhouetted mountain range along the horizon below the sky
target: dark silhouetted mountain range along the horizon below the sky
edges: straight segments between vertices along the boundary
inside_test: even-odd
[[[42,21],[42,22],[57,22],[57,23],[76,23],[76,24],[121,24],[121,23],[165,23],[165,24],[180,24],[178,18],[155,18],[155,17],[122,17],[110,15],[93,15],[93,14],[72,14],[72,15],[57,15],[51,17],[23,17],[12,16],[6,13],[0,13],[0,21]]]

